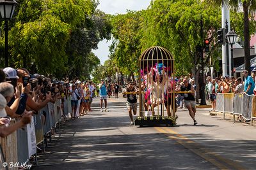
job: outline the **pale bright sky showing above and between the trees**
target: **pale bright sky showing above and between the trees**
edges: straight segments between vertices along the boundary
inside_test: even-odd
[[[149,6],[151,0],[99,0],[99,10],[109,14],[126,13],[126,10],[145,10]],[[108,60],[109,45],[111,41],[100,41],[98,49],[93,50],[93,53],[100,59],[100,63],[104,64]]]

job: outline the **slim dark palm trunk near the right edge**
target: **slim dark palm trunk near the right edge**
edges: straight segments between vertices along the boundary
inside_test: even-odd
[[[250,64],[250,31],[249,31],[249,15],[248,4],[246,1],[243,3],[244,10],[244,68],[251,74]]]

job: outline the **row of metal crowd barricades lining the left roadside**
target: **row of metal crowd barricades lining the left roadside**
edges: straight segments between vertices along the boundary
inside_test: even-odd
[[[61,100],[56,101],[56,103],[48,103],[47,106],[38,111],[38,115],[33,116],[33,124],[29,127],[27,125],[6,138],[1,138],[0,144],[3,148],[3,154],[0,155],[1,161],[3,162],[5,158],[4,161],[6,162],[25,163],[29,162],[31,154],[35,154],[36,157],[35,146],[42,142],[44,145],[45,134],[49,134],[51,141],[52,129],[56,127],[56,124],[61,124],[62,115],[68,115],[71,112],[70,97],[67,97],[64,101],[63,110],[61,108]],[[11,125],[14,123],[15,120],[12,120]],[[28,132],[31,133],[31,136]],[[32,136],[32,133],[35,137]],[[17,167],[12,169],[17,169]]]

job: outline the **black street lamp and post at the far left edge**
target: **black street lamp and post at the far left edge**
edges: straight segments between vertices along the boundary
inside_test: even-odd
[[[4,20],[4,67],[8,67],[8,20],[12,19],[15,7],[17,6],[15,0],[0,0],[0,13]]]

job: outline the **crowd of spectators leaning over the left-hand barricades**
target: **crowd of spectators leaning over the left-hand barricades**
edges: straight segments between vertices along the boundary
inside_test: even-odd
[[[47,103],[61,100],[61,108],[71,97],[72,118],[92,111],[91,103],[96,89],[92,81],[58,80],[52,75],[30,74],[27,69],[6,67],[0,69],[0,136],[5,137],[31,122]],[[41,115],[45,124],[45,116]],[[10,121],[16,123],[10,125]]]

